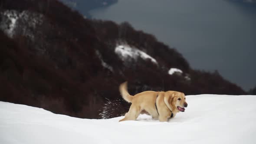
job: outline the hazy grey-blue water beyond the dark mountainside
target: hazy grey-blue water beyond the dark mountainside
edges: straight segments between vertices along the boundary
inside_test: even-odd
[[[245,90],[256,86],[256,7],[228,0],[119,0],[91,11],[128,21],[175,47],[194,69],[218,70]]]

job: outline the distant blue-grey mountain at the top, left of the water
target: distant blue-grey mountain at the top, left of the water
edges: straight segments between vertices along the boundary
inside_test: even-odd
[[[108,7],[114,3],[117,3],[118,0],[60,0],[65,3],[67,6],[71,7],[74,10],[78,10],[86,18],[91,18],[90,10]]]

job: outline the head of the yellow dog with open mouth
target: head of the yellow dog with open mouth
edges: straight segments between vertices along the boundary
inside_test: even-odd
[[[185,111],[187,107],[186,97],[182,92],[170,91],[167,93],[169,95],[168,103],[172,107],[172,109],[176,109],[177,111]]]

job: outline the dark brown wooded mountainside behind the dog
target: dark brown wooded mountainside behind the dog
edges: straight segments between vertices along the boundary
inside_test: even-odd
[[[216,71],[194,70],[176,49],[127,23],[85,19],[57,0],[0,1],[0,101],[79,118],[145,90],[245,95]],[[196,59],[196,58],[195,58]],[[107,99],[106,99],[107,98]]]

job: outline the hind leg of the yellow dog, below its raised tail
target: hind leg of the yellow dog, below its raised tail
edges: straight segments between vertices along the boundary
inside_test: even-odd
[[[129,111],[125,114],[125,118],[120,121],[131,121],[136,120],[141,112],[141,108],[131,104]],[[119,121],[119,122],[120,122]]]

